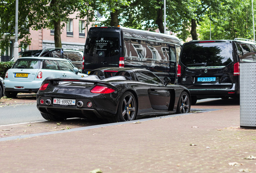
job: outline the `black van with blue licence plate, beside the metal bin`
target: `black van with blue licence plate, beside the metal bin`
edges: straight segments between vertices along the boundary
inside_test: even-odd
[[[256,52],[256,42],[242,38],[186,42],[178,63],[178,84],[189,89],[193,105],[198,99],[239,98],[239,62],[248,52]],[[256,55],[243,60],[256,61]]]

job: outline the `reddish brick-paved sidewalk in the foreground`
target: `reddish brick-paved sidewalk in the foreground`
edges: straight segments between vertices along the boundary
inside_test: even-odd
[[[213,108],[193,108],[202,107]],[[256,159],[244,159],[256,157],[256,130],[239,128],[239,105],[214,108],[219,110],[1,141],[0,172],[256,172]]]

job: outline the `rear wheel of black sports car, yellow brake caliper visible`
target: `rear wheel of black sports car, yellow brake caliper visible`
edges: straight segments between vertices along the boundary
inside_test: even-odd
[[[136,114],[136,99],[131,92],[125,92],[124,95],[122,95],[120,103],[118,105],[118,111],[116,116],[114,117],[114,122],[135,120]]]

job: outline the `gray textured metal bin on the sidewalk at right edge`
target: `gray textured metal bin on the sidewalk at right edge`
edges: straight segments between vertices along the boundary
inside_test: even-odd
[[[256,62],[240,63],[240,127],[256,129]]]

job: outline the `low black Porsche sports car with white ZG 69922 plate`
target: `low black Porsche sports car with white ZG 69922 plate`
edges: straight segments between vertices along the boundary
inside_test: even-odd
[[[140,68],[98,68],[80,79],[45,80],[37,92],[37,109],[52,121],[79,117],[120,122],[188,113],[188,89],[169,81]]]

